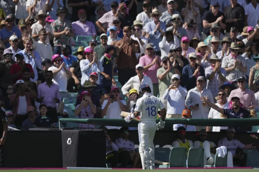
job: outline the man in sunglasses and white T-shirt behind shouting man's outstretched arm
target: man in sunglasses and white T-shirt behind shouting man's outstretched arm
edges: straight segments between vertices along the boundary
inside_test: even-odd
[[[215,105],[217,105],[218,107],[221,107],[223,109],[228,108],[228,102],[227,102],[227,94],[224,90],[219,90],[218,92],[218,101],[217,103],[215,103]],[[218,111],[216,111],[215,109],[211,108],[210,112],[209,112],[209,116],[208,119],[226,119],[227,116],[223,115],[221,113],[219,113]],[[217,126],[213,126],[212,131],[213,132],[220,132],[220,130],[226,130],[227,127],[217,127]],[[207,131],[211,131],[211,127],[207,126],[206,128]]]

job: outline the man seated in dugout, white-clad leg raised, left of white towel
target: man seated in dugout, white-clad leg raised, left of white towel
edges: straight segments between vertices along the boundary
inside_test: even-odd
[[[199,131],[199,140],[193,142],[194,147],[204,148],[204,164],[212,165],[214,163],[214,157],[216,149],[218,148],[214,142],[209,142],[207,139],[207,131],[202,129]]]

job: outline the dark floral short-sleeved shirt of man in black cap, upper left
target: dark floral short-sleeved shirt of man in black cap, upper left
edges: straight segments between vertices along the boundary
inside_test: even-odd
[[[66,27],[70,32],[73,31],[71,22],[66,19],[64,19],[64,21],[56,19],[51,23],[51,27],[53,32],[62,32]],[[70,36],[63,34],[60,37],[55,37],[53,43],[54,46],[70,45]]]

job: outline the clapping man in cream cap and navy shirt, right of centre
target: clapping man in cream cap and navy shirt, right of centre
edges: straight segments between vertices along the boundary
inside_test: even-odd
[[[184,86],[188,91],[196,87],[198,83],[196,80],[199,76],[205,77],[204,68],[196,63],[196,58],[196,53],[190,53],[190,64],[183,67],[182,81],[184,82]]]

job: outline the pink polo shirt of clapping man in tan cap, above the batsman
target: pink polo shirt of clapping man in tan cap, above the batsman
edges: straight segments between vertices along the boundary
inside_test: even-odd
[[[155,59],[155,55],[152,58],[147,55],[140,57],[139,64],[147,66]],[[161,58],[158,58],[159,64],[161,63]],[[150,77],[153,84],[158,84],[158,78],[156,77],[156,71],[159,69],[159,66],[155,63],[153,66],[147,69],[143,74]]]

